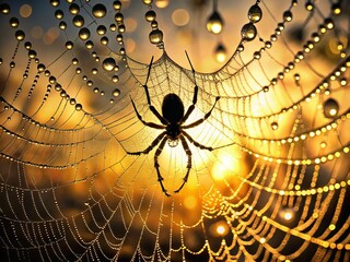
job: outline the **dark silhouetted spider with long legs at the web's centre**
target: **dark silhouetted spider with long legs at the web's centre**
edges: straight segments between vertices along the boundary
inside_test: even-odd
[[[197,103],[197,96],[198,96],[198,86],[196,84],[196,79],[195,79],[195,70],[194,67],[189,60],[189,57],[186,52],[187,59],[189,61],[189,64],[191,67],[191,71],[194,74],[194,80],[195,80],[195,90],[194,90],[194,97],[192,97],[192,104],[188,107],[187,111],[185,112],[185,107],[184,107],[184,103],[182,102],[182,99],[174,93],[170,93],[167,95],[164,96],[163,98],[163,103],[162,103],[162,115],[155,109],[154,106],[152,106],[151,104],[151,98],[150,98],[150,94],[149,94],[149,87],[147,85],[149,76],[150,76],[150,72],[151,72],[151,67],[153,63],[153,57],[151,59],[151,62],[149,64],[149,71],[147,74],[147,79],[145,79],[145,83],[143,85],[144,92],[145,92],[145,96],[147,96],[147,103],[149,105],[149,109],[152,111],[152,114],[161,121],[160,123],[154,123],[154,122],[147,122],[142,119],[141,115],[139,114],[132,98],[131,98],[131,103],[135,109],[135,112],[138,117],[138,119],[147,127],[153,128],[153,129],[159,129],[159,130],[164,130],[161,134],[159,134],[153,142],[143,151],[139,151],[139,152],[127,152],[127,154],[129,155],[141,155],[141,154],[148,154],[149,152],[151,152],[158,144],[158,148],[155,151],[154,154],[154,167],[158,174],[158,181],[161,184],[162,191],[164,192],[165,195],[170,196],[170,194],[167,193],[167,190],[165,189],[164,184],[163,184],[163,180],[164,178],[161,175],[160,171],[160,164],[159,164],[159,156],[161,155],[164,145],[166,142],[168,142],[168,145],[174,147],[178,144],[178,142],[180,141],[183,148],[187,155],[187,172],[185,175],[185,177],[183,178],[183,183],[180,184],[180,187],[174,191],[174,193],[178,193],[185,186],[185,183],[188,180],[188,176],[189,176],[189,171],[191,169],[191,156],[192,153],[188,146],[187,140],[192,143],[195,146],[199,147],[200,150],[207,150],[207,151],[213,151],[215,148],[211,147],[211,146],[206,146],[202,145],[200,143],[198,143],[197,141],[195,141],[185,130],[186,129],[190,129],[190,128],[195,128],[199,124],[201,124],[205,120],[207,120],[210,115],[211,111],[214,109],[217,102],[220,99],[220,96],[215,97],[215,102],[213,104],[213,106],[211,107],[211,109],[201,118],[198,119],[197,121],[194,121],[191,123],[185,124],[185,121],[188,119],[188,117],[190,116],[190,114],[194,111],[196,103]],[[222,147],[222,146],[220,146]],[[219,148],[219,147],[217,147]]]

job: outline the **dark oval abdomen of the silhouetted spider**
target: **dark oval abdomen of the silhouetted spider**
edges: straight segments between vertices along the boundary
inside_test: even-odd
[[[170,123],[179,123],[185,114],[182,99],[175,94],[164,96],[162,104],[162,115]]]

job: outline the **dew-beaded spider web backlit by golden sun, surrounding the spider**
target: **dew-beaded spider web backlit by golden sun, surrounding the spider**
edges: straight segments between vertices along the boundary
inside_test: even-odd
[[[258,1],[262,20],[255,39],[232,45],[232,57],[211,73],[197,71],[192,59],[192,74],[183,50],[185,67],[175,62],[166,37],[164,49],[151,49],[159,55],[148,81],[155,108],[168,93],[188,108],[197,84],[190,123],[220,96],[211,116],[188,130],[199,143],[220,148],[189,143],[189,180],[171,198],[158,181],[155,148],[126,153],[144,150],[162,131],[142,124],[132,108],[131,98],[145,121],[158,122],[142,87],[149,62],[128,49],[124,55],[127,45],[115,40],[118,26],[109,26],[118,11],[105,3],[100,19],[97,2],[50,2],[33,9],[49,17],[26,20],[19,2],[8,3],[10,14],[1,5],[4,259],[349,261],[347,1],[339,2],[340,14],[338,2]],[[74,3],[90,29],[86,38],[71,22]],[[143,21],[151,10],[122,4],[124,19]],[[228,3],[226,10],[246,12],[252,4]],[[56,26],[47,41],[57,32],[60,37],[43,45],[27,20]],[[107,33],[96,33],[98,25],[109,26]],[[106,58],[116,61],[113,70],[103,69]],[[165,145],[160,170],[168,192],[182,184],[187,162],[180,145]]]

